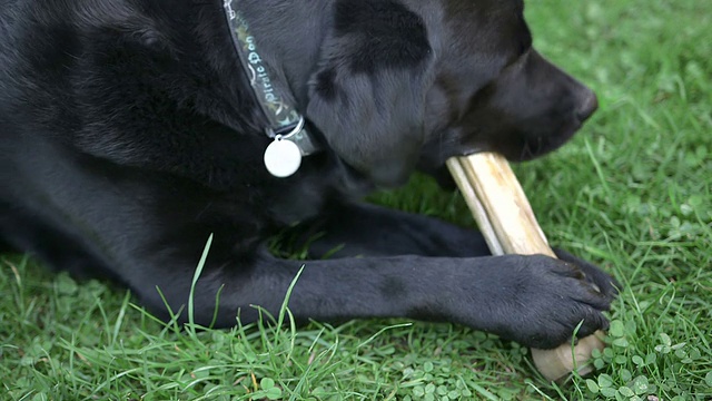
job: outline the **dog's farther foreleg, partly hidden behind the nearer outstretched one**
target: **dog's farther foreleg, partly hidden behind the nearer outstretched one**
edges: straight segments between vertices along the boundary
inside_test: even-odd
[[[476,229],[368,204],[332,208],[297,232],[312,257],[490,255]]]

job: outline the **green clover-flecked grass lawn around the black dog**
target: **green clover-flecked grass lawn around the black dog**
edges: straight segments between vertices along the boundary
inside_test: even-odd
[[[7,255],[0,398],[712,399],[712,3],[530,0],[526,12],[541,51],[600,96],[570,145],[515,168],[550,241],[623,284],[595,373],[548,383],[526,349],[449,324],[179,331],[121,288]],[[471,224],[423,177],[376,202]]]

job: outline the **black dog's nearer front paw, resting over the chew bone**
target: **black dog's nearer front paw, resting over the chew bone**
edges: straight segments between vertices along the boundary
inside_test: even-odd
[[[580,323],[577,336],[607,327],[603,312],[611,306],[613,278],[596,267],[592,276],[591,266],[543,255],[503,256],[500,263],[507,265],[488,280],[490,331],[523,345],[551,349],[570,341]]]

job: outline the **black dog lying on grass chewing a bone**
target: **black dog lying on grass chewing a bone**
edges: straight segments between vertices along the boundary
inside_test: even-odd
[[[263,162],[274,139],[236,13],[263,91],[320,148],[287,178]],[[0,242],[165,316],[156,287],[185,305],[214,234],[201,324],[278,310],[304,265],[299,320],[449,321],[537,348],[581,321],[590,334],[614,296],[591,264],[490,256],[476,232],[356,202],[454,155],[530,159],[570,138],[595,96],[531,43],[521,0],[3,0]],[[308,261],[267,251],[289,226]]]

